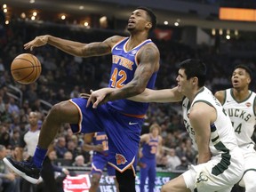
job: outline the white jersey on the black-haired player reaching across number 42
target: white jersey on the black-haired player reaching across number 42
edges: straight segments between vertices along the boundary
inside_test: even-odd
[[[189,103],[188,98],[185,98],[182,101],[184,124],[194,146],[197,148],[195,131],[189,121],[189,111],[196,102],[204,102],[216,109],[217,119],[213,124],[209,124],[209,129],[211,129],[211,140],[209,147],[212,152],[212,156],[226,154],[228,160],[229,150],[237,147],[236,135],[234,133],[230,119],[226,115],[219,100],[217,100],[213,96],[212,92],[206,87],[203,87],[202,90],[196,94],[196,97],[191,104]],[[202,119],[203,118],[204,116],[202,116]]]

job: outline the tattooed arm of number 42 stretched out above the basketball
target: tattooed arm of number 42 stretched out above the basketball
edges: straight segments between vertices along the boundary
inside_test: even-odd
[[[100,56],[111,53],[111,48],[114,44],[120,41],[122,36],[111,36],[103,42],[94,42],[90,44],[83,44],[80,42],[62,39],[56,36],[36,36],[35,39],[24,44],[24,48],[33,50],[34,47],[43,46],[44,44],[51,44],[68,54],[78,57]]]

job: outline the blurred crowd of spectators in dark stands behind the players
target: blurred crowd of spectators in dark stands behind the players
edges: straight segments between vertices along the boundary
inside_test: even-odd
[[[15,156],[14,148],[20,135],[28,130],[29,112],[40,113],[38,124],[42,124],[47,111],[55,103],[108,85],[111,55],[76,58],[50,45],[31,52],[41,61],[43,67],[42,75],[36,83],[15,83],[10,73],[12,60],[20,53],[29,52],[23,49],[23,44],[45,34],[90,43],[102,41],[115,33],[100,29],[84,31],[60,26],[30,25],[25,22],[14,22],[12,26],[4,28],[0,36],[0,144],[9,149],[12,156]],[[206,86],[212,92],[231,87],[231,71],[237,64],[243,63],[252,68],[252,71],[256,70],[255,58],[227,53],[232,49],[237,52],[241,49],[241,52],[244,52],[244,49],[256,47],[255,44],[240,44],[239,40],[230,40],[218,49],[205,44],[191,48],[171,40],[157,40],[154,37],[152,39],[161,53],[161,68],[156,79],[156,89],[175,86],[178,64],[188,58],[204,60],[208,68]],[[255,73],[253,78],[251,89],[255,92]],[[149,125],[153,123],[161,126],[164,148],[161,156],[157,156],[157,166],[168,171],[186,170],[188,164],[196,163],[196,150],[188,139],[180,109],[180,103],[151,103],[141,132],[148,132]],[[91,154],[83,150],[83,143],[83,135],[73,135],[69,125],[63,124],[54,143],[56,159],[68,159],[72,161],[69,165],[77,165],[77,161],[80,161],[79,165],[90,167]]]

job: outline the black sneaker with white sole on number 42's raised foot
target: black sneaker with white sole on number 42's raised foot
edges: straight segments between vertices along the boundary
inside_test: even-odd
[[[10,169],[12,169],[13,172],[17,173],[25,180],[28,180],[33,184],[37,184],[40,182],[40,180],[42,180],[40,177],[41,170],[38,169],[31,160],[16,162],[9,157],[5,157],[3,160],[4,164],[6,164]]]

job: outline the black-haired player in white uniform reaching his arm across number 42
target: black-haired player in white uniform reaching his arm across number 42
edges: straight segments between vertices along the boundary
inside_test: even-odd
[[[204,87],[206,67],[200,60],[180,63],[173,89],[146,89],[131,100],[143,102],[182,101],[183,118],[193,144],[198,149],[197,165],[165,183],[162,192],[228,192],[244,173],[244,157],[238,148],[231,121],[212,92]],[[104,95],[111,89],[92,92]],[[113,92],[113,91],[112,91]]]

